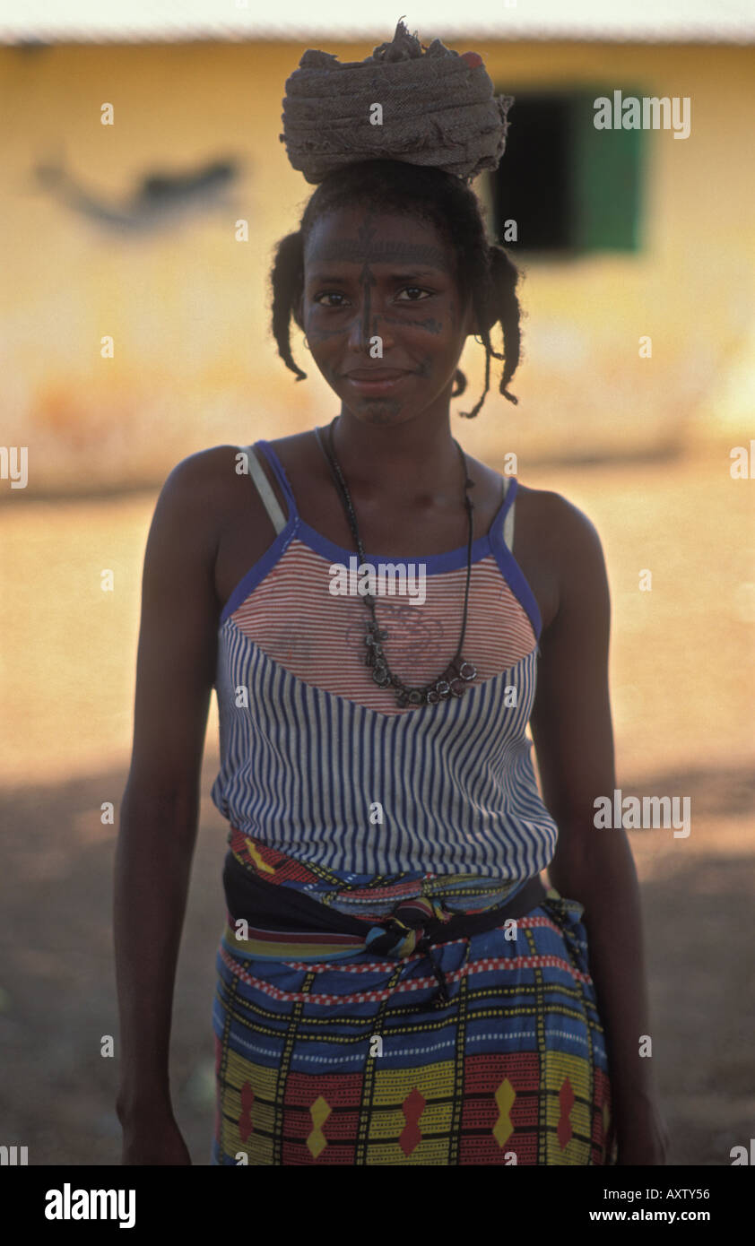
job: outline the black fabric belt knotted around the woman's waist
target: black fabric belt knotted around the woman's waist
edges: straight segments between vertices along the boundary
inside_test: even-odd
[[[394,922],[392,915],[366,922],[364,918],[351,917],[341,913],[328,905],[323,905],[311,896],[305,896],[293,887],[285,887],[263,878],[247,870],[233,852],[226,855],[223,866],[223,890],[226,892],[226,905],[233,921],[245,920],[250,926],[270,931],[290,932],[328,932],[336,934],[365,936],[368,930],[375,926],[384,927],[386,936],[400,931],[402,927]],[[546,900],[547,892],[539,875],[529,878],[521,891],[512,900],[488,908],[483,913],[455,913],[447,922],[437,917],[429,917],[412,922],[406,913],[401,913],[404,923],[422,930],[422,936],[416,943],[415,952],[429,953],[430,948],[439,943],[447,943],[456,938],[467,938],[471,934],[481,934],[485,931],[495,930],[505,921],[516,917],[525,917],[533,908],[537,908]],[[399,902],[395,910],[400,910]],[[390,942],[390,938],[387,939]],[[370,952],[380,954],[380,941],[373,944]],[[449,996],[442,971],[430,957],[435,977],[437,978],[442,1003],[447,1003]]]

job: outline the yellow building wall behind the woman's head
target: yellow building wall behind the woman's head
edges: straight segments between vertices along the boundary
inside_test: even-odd
[[[186,454],[282,436],[338,410],[299,331],[294,356],[309,373],[302,383],[278,359],[268,328],[273,247],[297,227],[314,189],[278,140],[285,78],[305,46],[0,51],[10,121],[1,260],[11,292],[1,313],[2,442],[29,446],[30,492],[158,482]],[[355,60],[371,46],[328,50]],[[481,415],[455,421],[465,446],[495,459],[511,449],[526,457],[655,446],[669,436],[746,444],[753,395],[744,380],[755,371],[751,50],[471,46],[496,88],[515,96],[596,80],[690,96],[691,135],[649,136],[642,253],[528,264],[526,354],[512,384],[520,406],[497,394],[493,361]],[[100,122],[105,102],[115,107],[111,127]],[[60,159],[96,199],[122,206],[150,171],[179,173],[222,157],[244,163],[226,208],[128,238],[95,228],[34,177],[37,163]],[[239,217],[249,221],[248,243],[234,238]],[[106,334],[113,359],[100,355]],[[638,356],[643,334],[652,360]],[[452,409],[476,401],[482,358],[470,343],[467,395]]]

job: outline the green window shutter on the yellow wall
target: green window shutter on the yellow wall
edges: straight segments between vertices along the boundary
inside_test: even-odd
[[[573,244],[577,250],[638,250],[640,247],[644,130],[596,130],[594,101],[614,87],[572,95],[571,153],[573,171]],[[643,91],[622,85],[624,98]]]

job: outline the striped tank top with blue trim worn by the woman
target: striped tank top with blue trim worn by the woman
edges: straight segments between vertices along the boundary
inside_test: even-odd
[[[548,865],[558,836],[527,736],[541,617],[511,552],[516,477],[502,477],[490,531],[472,543],[462,657],[476,679],[458,698],[400,708],[365,665],[370,614],[354,591],[354,551],[302,518],[268,441],[240,450],[237,470],[250,475],[275,538],[219,621],[212,800],[230,835],[300,862],[323,887],[401,878],[426,893],[466,878],[491,902],[513,896]],[[458,644],[467,546],[366,563],[376,577],[394,567],[375,607],[391,670],[410,685],[436,679]]]

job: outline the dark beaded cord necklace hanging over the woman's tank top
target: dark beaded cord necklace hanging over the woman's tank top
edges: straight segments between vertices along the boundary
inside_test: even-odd
[[[351,496],[346,487],[346,481],[344,480],[344,473],[340,468],[340,464],[335,457],[335,450],[333,449],[333,425],[335,424],[338,416],[334,416],[328,426],[328,446],[325,446],[323,439],[320,437],[320,430],[315,429],[315,436],[320,450],[323,451],[333,478],[335,481],[336,490],[344,503],[346,511],[346,518],[349,521],[349,527],[356,542],[356,549],[361,559],[363,566],[366,562],[365,552],[361,546],[361,540],[359,537],[359,528],[356,526],[356,515],[354,513],[354,505],[351,502]],[[365,657],[365,665],[370,667],[373,670],[373,680],[379,688],[387,688],[392,684],[396,689],[396,704],[404,709],[406,705],[435,705],[439,700],[447,700],[449,697],[461,697],[466,692],[465,685],[471,683],[477,675],[477,668],[472,665],[471,662],[466,662],[461,657],[461,647],[463,644],[463,638],[467,627],[467,607],[470,601],[470,576],[472,572],[472,538],[475,525],[472,520],[472,511],[475,510],[472,500],[468,497],[468,490],[473,487],[475,481],[470,480],[467,475],[467,465],[463,450],[453,437],[453,445],[458,450],[461,459],[461,466],[463,471],[463,505],[467,512],[468,520],[468,537],[467,537],[467,581],[463,593],[463,618],[461,623],[461,635],[458,637],[458,645],[456,653],[451,658],[449,665],[442,670],[437,679],[430,680],[429,684],[422,684],[421,687],[412,687],[405,684],[399,675],[394,674],[387,664],[387,658],[382,649],[382,640],[387,639],[387,629],[380,628],[378,618],[375,616],[375,597],[371,593],[364,594],[365,604],[368,606],[371,621],[366,624],[365,645],[368,653]]]

